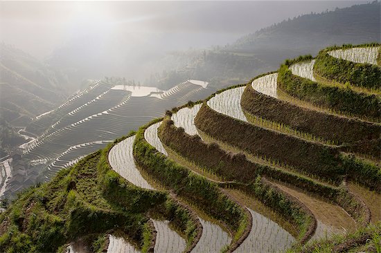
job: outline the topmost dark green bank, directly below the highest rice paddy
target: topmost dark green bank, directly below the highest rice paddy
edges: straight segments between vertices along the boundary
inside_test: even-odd
[[[373,46],[373,45],[372,45]],[[374,45],[374,46],[380,46]],[[344,47],[349,48],[349,47]],[[341,49],[341,48],[340,48]],[[321,50],[314,64],[314,73],[337,82],[349,82],[353,86],[369,89],[381,88],[381,67],[360,64],[328,55],[330,49]]]

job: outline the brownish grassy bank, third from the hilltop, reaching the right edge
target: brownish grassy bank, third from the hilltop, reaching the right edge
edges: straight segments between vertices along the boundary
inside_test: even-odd
[[[241,106],[245,112],[256,117],[283,123],[296,131],[311,133],[339,144],[377,139],[381,131],[380,124],[315,111],[265,95],[255,91],[251,83],[247,84],[242,94]]]

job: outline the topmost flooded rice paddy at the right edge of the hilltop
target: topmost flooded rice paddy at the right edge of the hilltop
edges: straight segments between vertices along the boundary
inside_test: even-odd
[[[362,64],[377,64],[379,46],[338,49],[328,52],[330,56]]]

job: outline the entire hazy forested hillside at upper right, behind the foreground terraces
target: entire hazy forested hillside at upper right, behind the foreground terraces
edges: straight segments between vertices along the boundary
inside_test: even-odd
[[[380,42],[380,17],[377,1],[294,17],[245,35],[231,45],[171,53],[159,62],[170,66],[170,71],[161,73],[157,81],[166,86],[172,79],[191,77],[209,79],[220,87],[238,84],[252,75],[276,70],[283,59],[316,55],[326,46]]]

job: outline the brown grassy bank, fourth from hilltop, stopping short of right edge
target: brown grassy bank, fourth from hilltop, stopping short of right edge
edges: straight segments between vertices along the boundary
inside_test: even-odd
[[[296,170],[339,182],[344,169],[339,167],[338,149],[292,135],[258,127],[218,113],[203,104],[195,125],[198,129],[222,142],[250,153],[285,162]],[[234,133],[234,134],[232,134]]]

